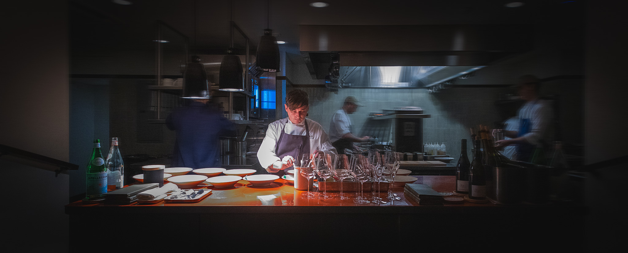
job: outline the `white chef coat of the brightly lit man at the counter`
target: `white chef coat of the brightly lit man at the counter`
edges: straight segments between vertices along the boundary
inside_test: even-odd
[[[326,154],[332,155],[332,160],[335,159],[336,148],[329,142],[329,137],[325,130],[320,126],[317,121],[305,118],[308,121],[308,128],[310,129],[310,152],[319,150]],[[266,130],[266,137],[262,142],[262,145],[257,150],[257,160],[263,168],[268,168],[273,165],[274,162],[280,161],[281,158],[275,154],[275,147],[281,136],[281,129],[289,135],[305,135],[305,120],[299,124],[293,124],[288,118],[274,121],[268,125]],[[284,128],[284,125],[286,126]],[[296,159],[296,157],[294,157]]]

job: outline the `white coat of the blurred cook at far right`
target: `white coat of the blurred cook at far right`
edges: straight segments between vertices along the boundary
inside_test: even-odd
[[[530,120],[530,132],[523,135],[530,144],[536,145],[540,140],[553,140],[553,128],[551,127],[552,111],[548,100],[532,100],[526,102],[517,113],[519,119]],[[518,130],[518,129],[517,129]]]

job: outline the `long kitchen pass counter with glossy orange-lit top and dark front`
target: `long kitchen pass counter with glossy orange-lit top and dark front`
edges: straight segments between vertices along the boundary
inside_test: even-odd
[[[455,187],[453,176],[416,178],[414,183],[423,183],[438,191],[451,192]],[[246,181],[241,183],[246,186]],[[382,244],[389,239],[413,245],[445,243],[443,239],[447,238],[448,247],[463,247],[475,240],[488,245],[487,240],[490,240],[490,245],[495,247],[514,244],[527,249],[528,245],[538,246],[538,243],[549,244],[549,247],[560,243],[561,249],[571,249],[570,245],[578,245],[583,237],[587,210],[579,205],[498,206],[468,202],[421,206],[404,198],[401,187],[393,187],[401,200],[388,200],[386,205],[303,199],[303,191],[295,190],[281,178],[269,187],[208,188],[212,188],[212,194],[196,204],[68,204],[65,212],[70,215],[70,245],[80,251],[75,245],[89,241],[92,232],[126,238],[119,241],[122,248],[122,244],[138,247],[133,244],[138,240],[151,241],[160,247],[144,247],[154,250],[163,250],[168,245],[155,241],[156,238],[166,239],[184,232],[206,235],[212,242],[236,242],[242,246],[268,242],[269,237],[293,245],[297,243],[295,235],[366,236],[375,233],[372,235],[381,235],[382,240],[376,241]],[[365,192],[365,196],[370,195]],[[120,223],[116,226],[98,224],[90,217],[115,217]],[[203,245],[190,244],[186,249],[207,249]]]

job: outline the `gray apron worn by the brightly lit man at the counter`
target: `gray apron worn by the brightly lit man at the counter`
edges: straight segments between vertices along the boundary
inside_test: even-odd
[[[308,121],[305,120],[305,135],[290,135],[284,130],[286,124],[281,128],[281,135],[275,145],[275,155],[283,160],[284,157],[290,155],[295,160],[300,159],[300,155],[304,153],[310,153],[310,128],[308,128]],[[296,162],[296,161],[295,161]],[[292,170],[294,167],[286,168],[285,170],[279,170],[278,172],[269,172],[279,177],[286,174],[288,170]]]

